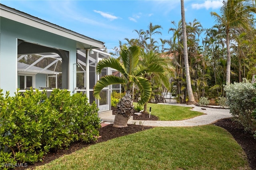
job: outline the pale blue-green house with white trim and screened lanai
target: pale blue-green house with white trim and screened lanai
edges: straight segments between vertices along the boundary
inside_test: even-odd
[[[101,100],[92,95],[101,76],[116,73],[106,68],[95,74],[98,61],[110,56],[103,48],[104,42],[0,4],[0,88],[10,96],[29,87],[68,89],[96,101],[99,113],[110,111],[112,86]]]

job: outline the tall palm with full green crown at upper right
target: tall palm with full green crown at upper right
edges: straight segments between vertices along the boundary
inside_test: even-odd
[[[216,19],[216,22],[222,24],[226,31],[226,48],[227,48],[227,69],[226,69],[226,85],[230,84],[230,31],[235,28],[250,29],[251,22],[249,20],[250,12],[254,11],[250,5],[244,5],[248,0],[224,0],[223,6],[220,8],[220,13],[211,12],[211,15]]]

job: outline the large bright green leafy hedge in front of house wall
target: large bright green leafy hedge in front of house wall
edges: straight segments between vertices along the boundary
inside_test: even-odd
[[[100,120],[96,104],[89,105],[86,95],[54,89],[30,89],[5,97],[0,89],[1,163],[42,161],[50,150],[61,149],[74,141],[96,140]],[[10,153],[3,152],[8,147]],[[3,161],[3,162],[2,162]]]

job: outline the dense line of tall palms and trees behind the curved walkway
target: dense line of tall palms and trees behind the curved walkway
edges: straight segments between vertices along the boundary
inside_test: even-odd
[[[210,12],[216,20],[212,28],[203,28],[196,19],[193,22],[185,22],[184,19],[185,29],[182,28],[182,20],[178,23],[173,21],[168,30],[171,34],[168,40],[156,40],[156,34],[162,35],[162,26],[150,22],[147,30],[134,30],[137,38],[119,41],[111,55],[118,58],[123,45],[137,45],[142,49],[142,65],[156,62],[164,67],[165,77],[155,73],[146,75],[152,83],[151,99],[154,102],[163,100],[162,93],[166,91],[176,94],[180,103],[189,101],[188,82],[196,101],[200,97],[223,97],[224,85],[241,82],[242,78],[252,79],[256,74],[255,12],[254,1],[225,0],[220,14]],[[186,73],[184,30],[190,74]],[[186,80],[187,75],[190,81]],[[132,95],[134,99],[136,94]]]

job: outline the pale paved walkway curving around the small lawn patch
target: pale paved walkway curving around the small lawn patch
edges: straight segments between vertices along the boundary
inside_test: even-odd
[[[136,124],[143,126],[155,126],[155,127],[192,127],[199,125],[208,125],[214,123],[215,121],[223,118],[232,117],[229,113],[229,109],[215,109],[215,108],[206,108],[198,107],[195,105],[186,105],[186,104],[177,104],[177,103],[159,103],[164,105],[179,105],[183,107],[194,107],[193,111],[200,111],[205,113],[205,115],[194,117],[192,119],[186,119],[182,121],[136,121],[129,120],[128,124]],[[202,110],[206,109],[206,110]]]

